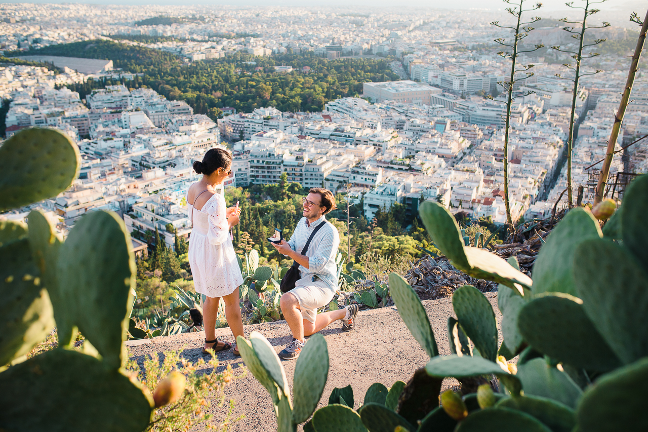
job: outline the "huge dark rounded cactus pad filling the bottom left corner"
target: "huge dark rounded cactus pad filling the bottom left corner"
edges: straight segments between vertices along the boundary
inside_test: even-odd
[[[0,374],[0,388],[1,427],[12,431],[138,432],[152,409],[128,377],[62,349],[9,368]]]

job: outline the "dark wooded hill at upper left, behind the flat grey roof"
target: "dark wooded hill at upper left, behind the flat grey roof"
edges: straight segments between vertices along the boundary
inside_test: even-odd
[[[175,54],[157,49],[126,45],[108,40],[90,40],[83,42],[50,45],[29,51],[6,51],[5,56],[50,55],[80,58],[100,58],[113,60],[115,67],[121,67],[130,72],[143,72],[148,67],[171,67],[179,64]]]

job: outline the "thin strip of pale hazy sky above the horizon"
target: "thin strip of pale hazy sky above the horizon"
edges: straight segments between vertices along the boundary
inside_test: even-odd
[[[532,1],[527,0],[529,5]],[[414,7],[428,7],[428,8],[453,8],[453,9],[467,9],[467,8],[488,8],[488,9],[502,9],[505,3],[501,0],[457,0],[448,2],[446,0],[93,0],[93,1],[75,1],[75,0],[61,0],[61,1],[5,1],[3,3],[90,3],[95,5],[254,5],[254,6],[414,6]],[[564,0],[544,0],[542,1],[543,10],[564,10],[567,6],[564,5]],[[581,3],[575,0],[575,4]],[[583,2],[584,3],[584,2]],[[452,5],[452,6],[450,6]],[[597,5],[602,12],[605,10],[645,10],[646,2],[641,0],[608,0],[602,5]]]

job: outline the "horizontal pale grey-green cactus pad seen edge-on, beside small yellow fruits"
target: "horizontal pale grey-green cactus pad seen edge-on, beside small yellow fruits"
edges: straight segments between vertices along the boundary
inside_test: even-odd
[[[454,378],[463,378],[467,376],[478,376],[494,374],[500,378],[506,388],[512,394],[520,393],[520,380],[509,372],[503,370],[500,365],[482,357],[458,357],[457,355],[446,355],[444,357],[434,357],[425,365],[425,370],[430,376],[445,378],[452,376]]]

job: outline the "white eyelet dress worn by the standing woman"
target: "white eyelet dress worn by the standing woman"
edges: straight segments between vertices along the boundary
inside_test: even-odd
[[[243,284],[243,276],[229,236],[225,198],[216,193],[200,210],[189,202],[187,206],[192,220],[189,265],[196,293],[207,297],[233,293]]]

